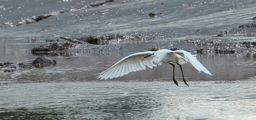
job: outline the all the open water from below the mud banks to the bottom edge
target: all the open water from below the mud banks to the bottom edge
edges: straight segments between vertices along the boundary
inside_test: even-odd
[[[56,66],[0,72],[0,119],[253,119],[255,58],[198,55],[213,74],[163,64],[111,80],[95,80],[126,56],[53,57]],[[116,61],[113,61],[116,60]],[[104,61],[104,62],[103,62]],[[191,70],[192,69],[192,70]]]

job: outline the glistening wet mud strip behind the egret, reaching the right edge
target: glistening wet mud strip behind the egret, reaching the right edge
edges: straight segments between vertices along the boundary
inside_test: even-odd
[[[209,40],[211,39],[211,40]],[[185,44],[185,45],[184,45]],[[192,46],[191,46],[192,45]],[[179,42],[160,43],[142,51],[160,49],[187,50],[192,53],[256,53],[256,42],[222,41],[213,38],[186,39]]]

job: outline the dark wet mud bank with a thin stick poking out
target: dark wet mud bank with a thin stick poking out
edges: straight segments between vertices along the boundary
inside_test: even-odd
[[[46,55],[51,55],[51,56],[59,56],[59,55],[67,55],[67,54],[72,54],[70,50],[72,48],[82,48],[86,47],[88,44],[92,45],[100,45],[96,47],[90,47],[90,48],[85,48],[83,53],[91,53],[91,54],[101,54],[105,53],[105,50],[120,50],[123,49],[124,46],[122,44],[125,43],[131,43],[131,42],[139,42],[139,41],[150,41],[154,39],[161,39],[164,38],[164,36],[156,36],[154,34],[113,34],[113,35],[108,35],[108,34],[100,34],[100,35],[88,35],[85,37],[73,37],[71,39],[68,39],[68,37],[64,38],[61,37],[65,40],[64,42],[54,42],[50,43],[47,46],[39,46],[35,47],[31,50],[33,54],[40,55],[40,54],[46,54]],[[58,41],[56,40],[51,40],[51,41]]]

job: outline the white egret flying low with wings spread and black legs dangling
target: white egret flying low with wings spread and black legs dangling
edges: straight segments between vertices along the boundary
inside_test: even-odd
[[[188,86],[186,80],[184,79],[183,71],[181,64],[190,63],[194,66],[199,72],[203,71],[206,74],[212,75],[195,57],[196,55],[192,55],[191,53],[185,50],[167,50],[161,49],[157,51],[146,51],[139,52],[128,55],[123,59],[119,60],[116,64],[111,66],[109,69],[99,73],[96,79],[112,79],[117,78],[119,76],[123,76],[132,71],[145,70],[146,66],[149,68],[157,67],[157,65],[161,65],[161,63],[171,64],[173,66],[173,81],[179,86],[178,82],[174,79],[174,68],[176,63],[181,68],[181,73],[183,77],[184,83]]]

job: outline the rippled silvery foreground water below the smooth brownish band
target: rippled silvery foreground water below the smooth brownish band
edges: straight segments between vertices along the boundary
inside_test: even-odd
[[[1,119],[254,119],[255,78],[189,82],[57,82],[1,90]],[[254,91],[254,92],[248,92]]]

